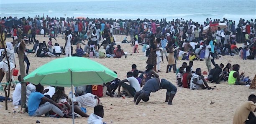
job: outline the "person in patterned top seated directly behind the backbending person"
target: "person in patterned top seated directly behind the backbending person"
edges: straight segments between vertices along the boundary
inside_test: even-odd
[[[153,64],[148,64],[148,66],[146,67],[147,69],[144,71],[143,73],[143,77],[142,77],[142,81],[141,81],[141,87],[143,85],[145,85],[145,83],[151,79],[152,75],[154,75],[155,77],[159,77],[158,74],[156,74],[155,71],[153,71],[152,69],[154,68]]]

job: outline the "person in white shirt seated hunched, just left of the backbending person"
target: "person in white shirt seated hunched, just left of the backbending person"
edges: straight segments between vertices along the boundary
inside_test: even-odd
[[[126,76],[126,79],[121,80],[119,82],[118,96],[121,95],[120,88],[122,86],[123,90],[125,90],[129,95],[128,97],[134,97],[134,94],[141,90],[140,84],[138,80],[135,77],[133,77],[133,72],[127,72]],[[128,82],[130,85],[126,84],[125,82]]]

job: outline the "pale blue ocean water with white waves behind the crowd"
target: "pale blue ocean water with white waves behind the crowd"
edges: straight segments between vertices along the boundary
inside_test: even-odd
[[[1,17],[90,17],[114,19],[256,19],[256,0],[120,0],[0,4]]]

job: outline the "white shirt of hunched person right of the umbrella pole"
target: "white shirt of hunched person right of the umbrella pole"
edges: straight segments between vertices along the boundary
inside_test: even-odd
[[[82,107],[96,107],[98,104],[98,100],[95,99],[95,95],[91,93],[84,94],[82,96],[76,97],[77,102],[80,104]]]

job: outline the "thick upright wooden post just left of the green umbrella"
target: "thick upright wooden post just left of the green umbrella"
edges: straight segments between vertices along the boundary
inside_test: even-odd
[[[20,79],[23,82],[25,77],[25,65],[24,65],[24,51],[26,48],[26,43],[24,40],[21,40],[19,46],[19,64],[20,64]],[[21,83],[21,110],[26,108],[26,83]]]

